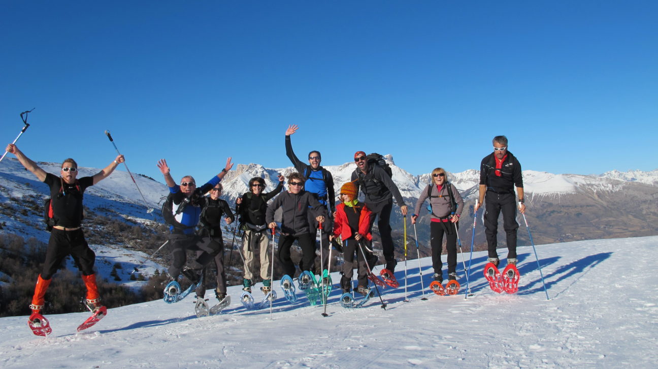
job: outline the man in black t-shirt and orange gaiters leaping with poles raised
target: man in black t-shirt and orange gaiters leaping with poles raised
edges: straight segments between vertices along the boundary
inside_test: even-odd
[[[30,322],[32,324],[39,323],[41,309],[43,309],[45,302],[45,292],[53,275],[68,255],[72,256],[76,266],[82,272],[82,280],[87,288],[85,302],[89,310],[96,312],[102,307],[102,304],[96,285],[96,275],[93,273],[95,254],[89,248],[82,231],[82,199],[84,190],[107,178],[119,163],[124,162],[124,157],[118,155],[110,165],[107,165],[99,173],[92,177],[78,179],[78,163],[74,159],[64,160],[59,177],[57,177],[51,173],[46,173],[34,161],[18,150],[16,145],[9,144],[7,152],[14,154],[25,169],[28,169],[36,175],[39,181],[50,187],[53,226],[48,240],[43,269],[37,279],[32,304],[30,304],[32,309]]]

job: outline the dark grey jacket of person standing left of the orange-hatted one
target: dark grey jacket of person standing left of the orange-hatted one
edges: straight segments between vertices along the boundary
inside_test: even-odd
[[[290,235],[303,235],[313,233],[309,226],[307,213],[309,207],[315,210],[315,213],[327,217],[326,207],[315,196],[307,191],[300,191],[298,194],[292,194],[288,191],[281,192],[274,198],[274,202],[267,207],[265,221],[269,224],[274,221],[274,212],[278,208],[283,208],[281,219],[281,232]]]

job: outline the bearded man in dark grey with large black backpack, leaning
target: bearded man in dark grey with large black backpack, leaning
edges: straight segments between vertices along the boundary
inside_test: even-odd
[[[393,210],[393,197],[400,207],[403,215],[407,215],[407,205],[400,194],[397,185],[393,183],[390,167],[388,167],[384,158],[379,154],[370,154],[366,156],[363,151],[357,151],[354,154],[354,161],[357,169],[352,173],[351,181],[357,185],[357,190],[361,189],[365,196],[365,204],[372,212],[370,217],[370,227],[375,218],[378,219],[377,226],[382,239],[382,251],[386,260],[386,269],[392,273],[395,271],[395,249],[393,247],[393,238],[391,237],[391,212]]]

